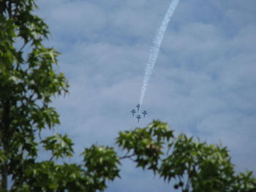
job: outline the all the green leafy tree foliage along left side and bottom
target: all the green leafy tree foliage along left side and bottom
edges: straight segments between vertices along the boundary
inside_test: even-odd
[[[182,191],[256,190],[252,172],[234,172],[226,147],[175,137],[158,120],[119,132],[123,156],[92,145],[82,153],[83,164],[65,163],[73,155],[71,139],[41,136],[59,124],[51,99],[69,85],[56,70],[59,53],[43,45],[49,31],[36,8],[34,0],[0,0],[0,191],[104,191],[119,177],[124,158],[167,182],[176,180],[173,187]],[[39,158],[41,149],[50,153],[47,160]]]

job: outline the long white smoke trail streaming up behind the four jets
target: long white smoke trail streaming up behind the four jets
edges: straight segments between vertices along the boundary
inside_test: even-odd
[[[151,74],[153,72],[154,64],[157,61],[157,55],[159,53],[159,48],[161,46],[162,39],[164,38],[164,35],[165,35],[167,25],[170,21],[170,18],[173,15],[174,10],[176,9],[176,7],[178,5],[178,1],[179,0],[173,0],[170,3],[170,7],[168,8],[168,10],[165,14],[165,18],[164,18],[164,20],[162,20],[162,24],[161,24],[160,28],[157,29],[157,34],[154,37],[153,45],[151,46],[151,49],[150,49],[148,63],[146,64],[146,71],[145,71],[145,76],[144,76],[144,79],[143,79],[143,85],[142,85],[142,88],[141,88],[140,107],[143,104],[143,99],[144,99],[145,92],[146,92],[146,89],[147,89],[148,81],[149,81],[149,79],[151,77]]]

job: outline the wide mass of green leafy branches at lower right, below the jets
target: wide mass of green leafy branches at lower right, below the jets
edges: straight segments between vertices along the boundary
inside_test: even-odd
[[[235,174],[227,147],[208,145],[179,134],[174,137],[166,123],[154,120],[146,128],[119,133],[117,144],[137,166],[152,169],[183,192],[256,191],[252,172]],[[132,152],[131,152],[132,151]]]

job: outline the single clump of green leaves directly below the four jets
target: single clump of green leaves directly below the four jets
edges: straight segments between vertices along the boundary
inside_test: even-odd
[[[156,172],[160,156],[164,154],[162,145],[171,137],[173,137],[173,131],[168,129],[166,123],[154,121],[146,128],[120,132],[116,142],[123,150],[127,150],[127,155],[123,158],[135,156],[134,161],[138,164],[137,166]],[[131,150],[132,154],[129,154]]]

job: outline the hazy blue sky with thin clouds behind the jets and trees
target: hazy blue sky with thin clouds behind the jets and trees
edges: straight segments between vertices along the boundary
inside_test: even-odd
[[[55,99],[57,132],[79,154],[115,145],[118,131],[154,119],[208,143],[227,146],[238,172],[256,172],[256,1],[181,0],[167,27],[137,123],[146,62],[170,0],[39,0],[47,42],[61,53],[69,94]],[[173,191],[124,161],[107,191]]]

